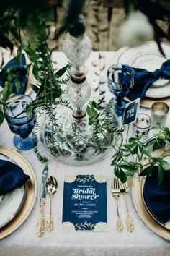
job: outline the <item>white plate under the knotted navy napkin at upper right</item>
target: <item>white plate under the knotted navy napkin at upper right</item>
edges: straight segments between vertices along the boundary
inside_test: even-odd
[[[155,42],[148,42],[142,46],[127,48],[120,54],[117,63],[125,63],[132,67],[147,69],[153,72],[160,69],[161,65],[170,59],[170,46],[161,43],[166,57],[162,56]],[[148,98],[165,98],[170,96],[170,80],[159,78],[153,82],[146,91]]]

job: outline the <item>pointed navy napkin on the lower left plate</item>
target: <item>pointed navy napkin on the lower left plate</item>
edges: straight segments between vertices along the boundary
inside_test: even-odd
[[[0,160],[0,195],[25,184],[30,176],[24,174],[22,168],[16,164]]]

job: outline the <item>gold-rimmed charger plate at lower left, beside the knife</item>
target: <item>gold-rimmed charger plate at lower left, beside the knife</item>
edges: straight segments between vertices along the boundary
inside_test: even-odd
[[[30,163],[28,163],[22,155],[17,153],[17,151],[0,146],[0,153],[12,158],[22,168],[24,173],[30,176],[30,179],[27,181],[27,191],[22,208],[20,208],[12,221],[0,229],[0,239],[2,239],[18,229],[30,215],[37,196],[37,181]]]

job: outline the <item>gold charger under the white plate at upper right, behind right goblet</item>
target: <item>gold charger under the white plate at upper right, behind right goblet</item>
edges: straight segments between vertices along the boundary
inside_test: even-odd
[[[128,47],[122,47],[118,51],[116,51],[115,55],[113,56],[113,58],[110,61],[109,66],[112,66],[113,64],[117,64],[118,59],[120,58],[122,53],[124,51],[126,51],[127,49],[128,49]],[[128,97],[125,97],[125,101],[130,102],[131,100]],[[144,108],[151,108],[153,103],[160,102],[160,101],[164,102],[164,103],[166,103],[170,106],[170,97],[166,97],[166,98],[143,98],[140,101],[140,106],[143,106]]]

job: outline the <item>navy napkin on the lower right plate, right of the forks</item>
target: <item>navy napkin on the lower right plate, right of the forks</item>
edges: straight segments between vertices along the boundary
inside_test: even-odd
[[[170,171],[165,171],[164,181],[158,185],[158,167],[155,166],[152,176],[146,177],[143,196],[151,213],[166,223],[170,219]]]

